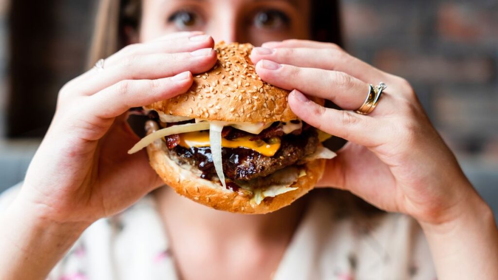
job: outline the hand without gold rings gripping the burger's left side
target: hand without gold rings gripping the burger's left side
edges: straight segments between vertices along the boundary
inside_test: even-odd
[[[214,41],[200,34],[129,45],[106,59],[103,71],[67,83],[17,200],[44,220],[90,224],[160,186],[146,152],[126,152],[139,140],[126,112],[186,92],[192,73],[213,67]]]

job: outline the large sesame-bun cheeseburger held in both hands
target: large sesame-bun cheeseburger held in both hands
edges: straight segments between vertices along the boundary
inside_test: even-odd
[[[289,205],[320,179],[335,153],[328,135],[302,122],[289,92],[267,84],[252,45],[220,42],[216,65],[191,88],[144,107],[150,165],[177,193],[209,207],[262,214]],[[323,100],[315,100],[323,103]]]

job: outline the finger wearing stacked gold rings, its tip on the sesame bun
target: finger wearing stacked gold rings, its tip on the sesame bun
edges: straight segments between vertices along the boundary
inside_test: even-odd
[[[368,84],[344,72],[282,65],[269,60],[260,60],[256,73],[269,84],[328,99],[346,110],[360,108],[369,90]]]

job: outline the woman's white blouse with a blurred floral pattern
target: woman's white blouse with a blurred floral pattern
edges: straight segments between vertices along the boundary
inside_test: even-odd
[[[15,196],[0,196],[4,209]],[[343,215],[313,197],[273,280],[435,280],[418,224],[401,214]],[[358,212],[358,211],[357,211]],[[178,279],[175,258],[154,199],[90,226],[49,280]]]

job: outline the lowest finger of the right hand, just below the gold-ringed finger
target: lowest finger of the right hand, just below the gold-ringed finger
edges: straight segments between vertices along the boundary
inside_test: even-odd
[[[350,111],[325,108],[298,90],[290,93],[289,106],[301,120],[328,134],[372,147],[382,142],[381,127],[374,118]]]

